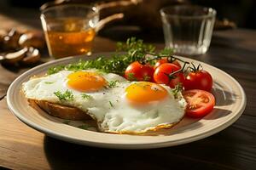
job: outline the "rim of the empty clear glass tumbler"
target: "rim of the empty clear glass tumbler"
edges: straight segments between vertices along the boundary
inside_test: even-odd
[[[195,15],[195,16],[188,16],[184,14],[166,14],[166,9],[174,9],[174,8],[199,8],[199,9],[207,9],[208,14],[201,14],[201,15]],[[164,8],[160,8],[160,14],[161,16],[168,16],[170,18],[178,18],[178,19],[206,19],[214,17],[217,12],[214,8],[209,7],[203,7],[200,5],[173,5],[173,6],[167,6]]]

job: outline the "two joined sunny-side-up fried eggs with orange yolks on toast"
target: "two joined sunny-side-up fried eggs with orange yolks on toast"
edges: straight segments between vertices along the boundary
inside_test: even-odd
[[[128,82],[96,70],[60,71],[23,83],[27,99],[77,107],[96,120],[105,133],[145,133],[172,127],[184,116],[186,102],[172,89],[154,82]],[[56,93],[69,92],[61,99]],[[67,96],[68,97],[68,96]]]

